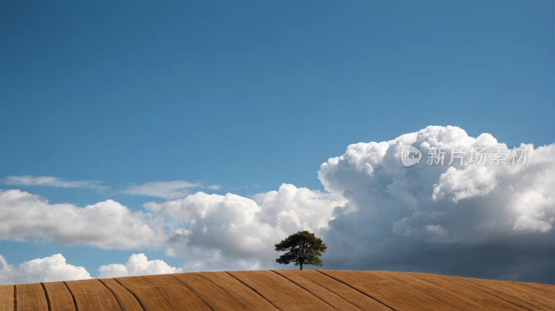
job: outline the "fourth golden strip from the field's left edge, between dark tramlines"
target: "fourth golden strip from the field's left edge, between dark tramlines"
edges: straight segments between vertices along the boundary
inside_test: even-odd
[[[66,284],[79,311],[121,310],[112,292],[99,280],[68,281]]]

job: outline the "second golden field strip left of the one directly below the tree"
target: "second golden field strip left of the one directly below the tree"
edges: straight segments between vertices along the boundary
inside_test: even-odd
[[[244,310],[278,310],[262,296],[225,272],[198,272],[196,274],[220,287],[240,303]]]

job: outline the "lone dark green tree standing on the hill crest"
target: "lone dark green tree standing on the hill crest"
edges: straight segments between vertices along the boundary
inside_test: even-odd
[[[316,238],[314,233],[299,231],[275,245],[276,251],[287,251],[275,262],[280,265],[295,263],[295,265],[300,265],[301,270],[303,264],[322,267],[322,260],[318,256],[322,256],[325,249],[327,247],[323,244],[322,239]]]

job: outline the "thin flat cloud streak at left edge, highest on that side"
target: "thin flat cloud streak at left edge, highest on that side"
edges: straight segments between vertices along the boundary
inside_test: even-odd
[[[70,180],[66,181],[60,177],[51,176],[40,176],[33,177],[29,175],[24,176],[8,176],[6,178],[0,179],[0,182],[6,185],[15,186],[49,186],[49,187],[60,187],[60,188],[90,188],[94,190],[108,190],[110,187],[101,186],[99,181],[87,181],[87,180]]]

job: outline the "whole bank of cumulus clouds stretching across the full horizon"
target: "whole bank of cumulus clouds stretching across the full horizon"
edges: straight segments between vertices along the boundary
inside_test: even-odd
[[[424,157],[402,166],[403,145],[423,154],[445,148],[445,163],[429,166]],[[196,184],[147,183],[128,188],[128,194],[169,200],[147,202],[136,213],[112,200],[79,208],[7,190],[0,192],[0,239],[31,236],[103,249],[164,247],[167,256],[185,258],[182,271],[265,269],[280,267],[275,243],[309,230],[328,247],[326,269],[555,283],[554,145],[517,146],[529,149],[525,166],[475,165],[470,152],[447,165],[451,147],[461,146],[513,147],[491,134],[474,138],[459,127],[429,126],[391,141],[349,145],[318,170],[326,193],[283,184],[252,197],[186,195]],[[175,269],[150,268],[141,260],[144,269],[109,265],[101,274]]]

